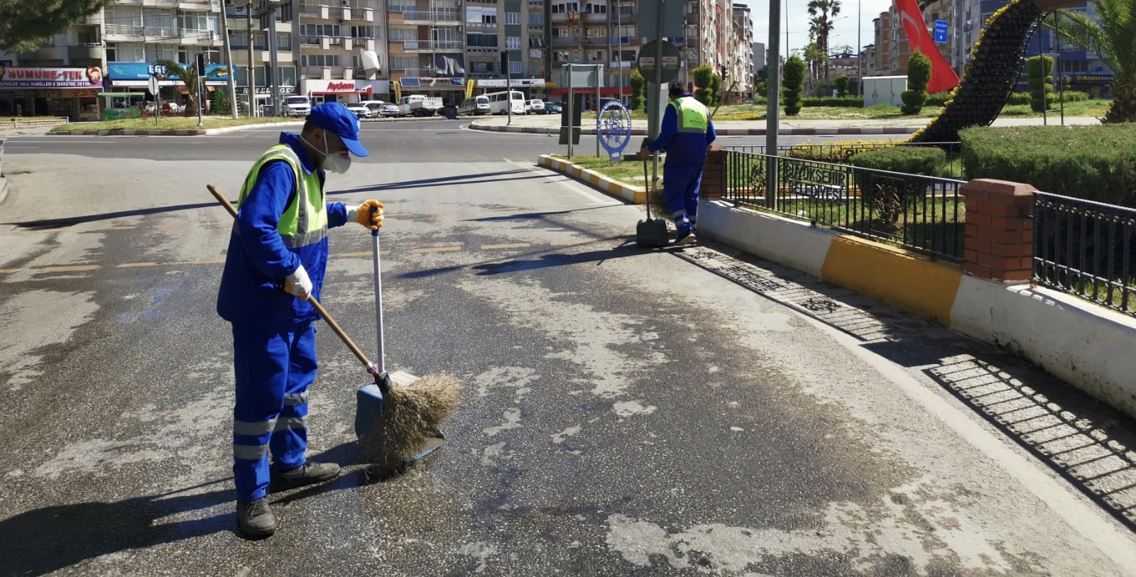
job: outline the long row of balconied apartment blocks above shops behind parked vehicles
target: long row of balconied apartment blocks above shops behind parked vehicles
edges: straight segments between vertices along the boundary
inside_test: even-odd
[[[709,64],[752,90],[752,22],[744,5],[687,0],[684,73]],[[394,100],[402,92],[456,102],[469,90],[510,85],[559,100],[566,64],[604,67],[601,95],[630,95],[628,76],[644,39],[635,0],[111,0],[31,55],[0,55],[0,114],[73,119],[130,116],[149,100],[162,59],[202,55],[211,72],[231,41],[236,100],[267,112],[274,94],[315,102]],[[508,55],[508,59],[502,58]],[[275,67],[273,61],[275,59]],[[227,76],[206,82],[212,92]],[[161,99],[185,87],[165,78]]]

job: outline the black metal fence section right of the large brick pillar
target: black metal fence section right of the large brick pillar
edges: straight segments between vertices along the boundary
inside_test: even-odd
[[[1037,192],[1033,281],[1136,316],[1134,235],[1136,209]]]

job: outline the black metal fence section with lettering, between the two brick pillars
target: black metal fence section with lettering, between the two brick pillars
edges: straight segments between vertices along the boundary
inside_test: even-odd
[[[961,261],[963,181],[727,150],[724,196],[875,241]],[[776,198],[768,174],[776,167]]]

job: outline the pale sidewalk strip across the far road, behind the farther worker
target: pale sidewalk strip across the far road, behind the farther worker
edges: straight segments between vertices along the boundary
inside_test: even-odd
[[[1042,124],[1060,125],[1060,117],[1050,118],[999,118],[993,126],[1041,126]],[[930,122],[930,118],[894,118],[885,120],[872,119],[828,119],[800,120],[782,117],[777,134],[791,136],[837,135],[837,134],[912,134]],[[595,124],[588,119],[582,120],[583,134],[595,134]],[[508,125],[507,125],[508,124]],[[1092,116],[1067,116],[1066,126],[1100,124]],[[517,115],[512,120],[506,116],[476,118],[470,128],[478,131],[523,132],[537,134],[559,134],[560,115]],[[720,136],[761,136],[767,132],[766,120],[721,120],[715,123],[715,129]],[[646,120],[632,120],[632,134],[645,135]]]

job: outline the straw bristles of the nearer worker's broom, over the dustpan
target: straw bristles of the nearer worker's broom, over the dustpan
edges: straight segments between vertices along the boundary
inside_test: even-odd
[[[426,375],[408,386],[392,384],[383,398],[383,415],[359,440],[360,463],[368,476],[401,473],[431,440],[442,436],[438,425],[458,410],[461,383],[452,375]]]

